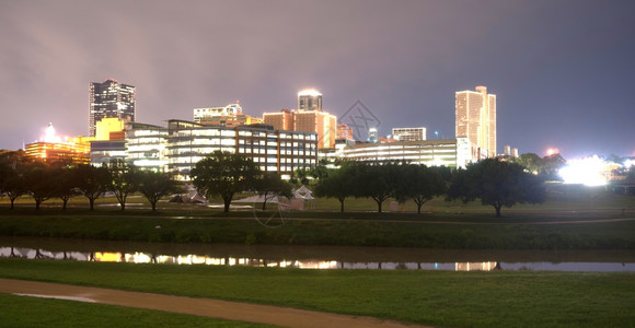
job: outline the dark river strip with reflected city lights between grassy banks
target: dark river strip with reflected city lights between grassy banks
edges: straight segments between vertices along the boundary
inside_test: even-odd
[[[139,250],[134,250],[135,248]],[[558,253],[327,246],[183,246],[3,238],[0,241],[0,257],[299,269],[635,272],[635,251]]]

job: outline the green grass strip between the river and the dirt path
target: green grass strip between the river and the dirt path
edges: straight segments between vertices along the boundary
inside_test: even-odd
[[[0,277],[274,304],[443,327],[632,327],[635,274],[145,266],[0,259]],[[1,300],[1,298],[0,298]]]

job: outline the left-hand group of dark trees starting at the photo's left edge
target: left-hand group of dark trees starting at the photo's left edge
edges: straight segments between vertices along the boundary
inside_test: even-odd
[[[62,201],[62,210],[66,210],[68,201],[78,196],[85,197],[93,210],[95,200],[111,191],[122,210],[129,195],[140,192],[155,211],[159,199],[181,190],[183,187],[170,175],[140,169],[125,162],[93,166],[45,162],[28,157],[22,151],[0,154],[0,192],[10,199],[11,209],[19,197],[28,195],[37,210],[44,201],[56,198]]]

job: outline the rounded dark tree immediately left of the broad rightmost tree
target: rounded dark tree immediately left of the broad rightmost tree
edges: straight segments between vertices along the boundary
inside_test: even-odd
[[[428,200],[444,194],[448,189],[442,172],[438,167],[407,164],[400,168],[395,198],[402,202],[412,199],[417,204],[418,214]]]

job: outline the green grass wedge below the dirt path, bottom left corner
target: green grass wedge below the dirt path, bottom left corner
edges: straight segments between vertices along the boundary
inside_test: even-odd
[[[272,327],[159,311],[0,294],[1,327]]]

